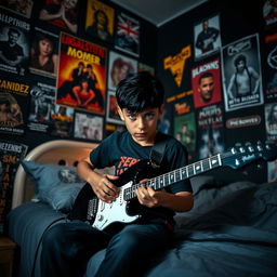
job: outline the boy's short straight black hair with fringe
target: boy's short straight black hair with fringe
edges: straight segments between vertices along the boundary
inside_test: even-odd
[[[163,96],[161,82],[147,71],[136,72],[121,80],[116,91],[118,106],[132,113],[160,108]]]

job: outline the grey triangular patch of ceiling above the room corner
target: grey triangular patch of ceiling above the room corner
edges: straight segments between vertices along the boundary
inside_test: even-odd
[[[208,0],[111,0],[157,27]]]

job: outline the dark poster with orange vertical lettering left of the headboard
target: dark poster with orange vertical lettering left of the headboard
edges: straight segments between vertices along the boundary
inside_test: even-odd
[[[0,140],[0,234],[3,234],[6,215],[12,208],[15,172],[26,153],[26,145]]]

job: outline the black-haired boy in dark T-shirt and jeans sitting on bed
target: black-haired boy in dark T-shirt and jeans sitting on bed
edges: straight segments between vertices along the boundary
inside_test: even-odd
[[[161,162],[164,173],[186,164],[182,144],[157,131],[163,111],[163,89],[156,78],[144,71],[133,75],[120,81],[116,96],[127,131],[113,133],[78,164],[80,177],[105,202],[118,196],[119,188],[113,184],[119,179],[118,173],[138,160],[149,159],[151,146],[159,141],[167,141]],[[116,175],[94,171],[110,166],[115,166]],[[144,216],[119,232],[98,230],[80,221],[50,228],[42,241],[42,276],[83,276],[89,259],[104,248],[106,254],[95,276],[142,276],[146,261],[166,248],[173,230],[174,211],[190,210],[194,198],[189,181],[156,192],[142,185],[135,193]]]

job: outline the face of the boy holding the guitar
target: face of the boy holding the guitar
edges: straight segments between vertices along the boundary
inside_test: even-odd
[[[142,146],[154,144],[157,134],[157,123],[162,111],[163,106],[160,108],[147,108],[137,114],[118,107],[118,114],[121,120],[124,121],[127,130],[133,140]]]

